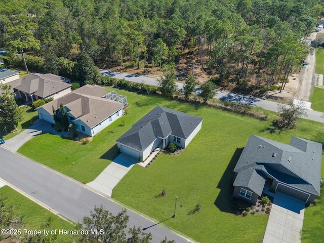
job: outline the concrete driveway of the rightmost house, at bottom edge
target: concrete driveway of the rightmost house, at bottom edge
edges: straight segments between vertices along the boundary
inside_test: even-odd
[[[263,243],[301,242],[304,211],[304,201],[276,192]]]

